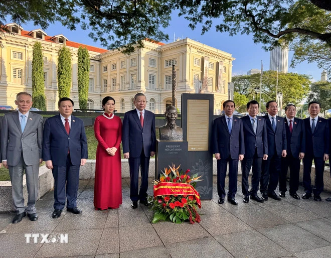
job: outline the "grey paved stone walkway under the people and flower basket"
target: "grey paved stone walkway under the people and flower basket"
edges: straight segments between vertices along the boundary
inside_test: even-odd
[[[151,180],[150,180],[151,181]],[[122,180],[123,204],[119,209],[96,211],[93,180],[80,181],[78,207],[83,213],[62,212],[52,219],[53,192],[37,203],[39,219],[27,217],[11,224],[13,214],[0,214],[1,257],[331,257],[331,203],[295,200],[264,203],[242,202],[238,181],[238,205],[202,201],[201,223],[151,224],[151,212],[129,200],[129,179]],[[151,186],[151,184],[150,184]],[[288,193],[288,192],[287,192]],[[303,188],[298,194],[301,196]],[[152,194],[152,187],[149,187]],[[329,194],[331,195],[331,194]],[[68,243],[26,243],[26,233],[68,233]]]

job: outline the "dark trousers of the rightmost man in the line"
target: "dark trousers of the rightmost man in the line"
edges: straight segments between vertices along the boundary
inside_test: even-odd
[[[311,187],[311,165],[312,160],[314,160],[315,164],[315,186]],[[325,161],[323,158],[317,158],[312,156],[304,156],[303,158],[303,187],[306,193],[314,193],[315,196],[320,195],[323,191],[324,183],[323,183],[323,173],[324,173]]]

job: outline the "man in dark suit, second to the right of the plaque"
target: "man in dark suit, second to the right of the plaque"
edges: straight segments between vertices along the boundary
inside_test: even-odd
[[[251,100],[246,105],[248,115],[241,118],[244,128],[245,157],[241,162],[241,188],[244,194],[244,202],[251,199],[264,202],[257,195],[261,177],[262,159],[268,158],[267,127],[264,118],[258,116],[259,102]],[[252,188],[249,191],[248,176],[252,168]]]

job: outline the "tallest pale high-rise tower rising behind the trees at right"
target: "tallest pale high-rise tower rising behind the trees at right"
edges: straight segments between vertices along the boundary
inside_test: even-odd
[[[288,47],[275,47],[270,51],[270,70],[287,73],[288,68]]]

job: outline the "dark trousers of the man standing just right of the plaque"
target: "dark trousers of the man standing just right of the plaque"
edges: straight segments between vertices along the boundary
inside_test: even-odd
[[[217,193],[221,198],[225,197],[225,176],[226,169],[229,163],[229,191],[228,198],[235,197],[237,193],[237,178],[238,178],[238,160],[233,160],[230,157],[217,161]]]

